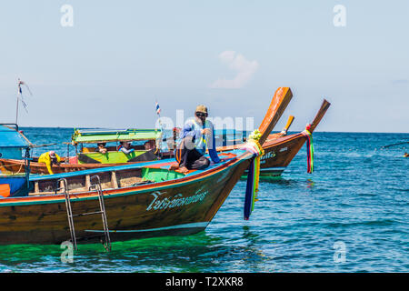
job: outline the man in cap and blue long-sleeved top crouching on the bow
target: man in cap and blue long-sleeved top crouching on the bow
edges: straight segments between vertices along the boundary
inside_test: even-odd
[[[195,110],[195,119],[187,120],[182,130],[182,142],[175,151],[179,162],[178,172],[187,173],[191,169],[202,170],[210,165],[205,157],[206,147],[214,163],[220,163],[215,150],[214,125],[206,120],[208,116],[205,105],[198,105]]]

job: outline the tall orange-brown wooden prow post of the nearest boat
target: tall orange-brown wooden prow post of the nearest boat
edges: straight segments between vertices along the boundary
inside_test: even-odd
[[[267,113],[264,116],[263,122],[258,127],[262,136],[260,137],[260,145],[264,144],[268,135],[272,132],[274,126],[277,124],[281,115],[283,115],[285,108],[290,103],[293,93],[289,87],[279,87],[273,96]]]

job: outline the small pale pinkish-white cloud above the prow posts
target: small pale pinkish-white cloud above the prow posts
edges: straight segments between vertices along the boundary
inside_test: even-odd
[[[237,71],[237,75],[232,80],[219,78],[210,85],[212,88],[241,88],[248,83],[258,68],[257,61],[248,61],[244,55],[234,51],[224,51],[219,58],[230,69]]]

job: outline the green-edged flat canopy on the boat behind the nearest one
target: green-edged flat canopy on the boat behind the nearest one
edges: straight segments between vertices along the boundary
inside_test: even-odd
[[[95,129],[75,130],[71,141],[77,144],[95,144],[135,140],[156,140],[161,138],[161,129]]]

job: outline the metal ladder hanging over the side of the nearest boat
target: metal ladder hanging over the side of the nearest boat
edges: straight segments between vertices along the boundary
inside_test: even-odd
[[[95,180],[95,183],[93,183]],[[73,243],[74,249],[77,250],[76,246],[76,236],[75,236],[75,226],[74,226],[74,217],[76,216],[91,216],[91,215],[98,215],[102,216],[103,226],[104,226],[104,235],[105,235],[105,243],[103,241],[102,244],[104,245],[106,251],[111,250],[111,238],[109,237],[109,229],[108,229],[108,220],[106,219],[106,212],[105,212],[105,202],[104,202],[104,193],[101,187],[101,180],[99,176],[92,176],[90,178],[90,186],[88,187],[89,191],[96,190],[98,193],[98,201],[99,201],[99,208],[100,211],[95,212],[87,212],[87,213],[80,213],[73,215],[73,208],[71,206],[71,197],[68,193],[67,182],[65,178],[61,178],[57,180],[57,186],[55,193],[59,190],[64,190],[65,196],[65,206],[66,206],[66,214],[68,216],[68,226],[70,228],[70,235],[71,235],[71,242]],[[62,185],[62,186],[61,186]]]

